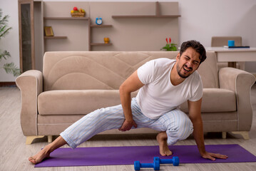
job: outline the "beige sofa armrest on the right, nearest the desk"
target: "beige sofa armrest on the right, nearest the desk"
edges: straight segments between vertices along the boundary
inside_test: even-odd
[[[249,131],[252,126],[252,105],[250,90],[255,77],[236,68],[221,68],[219,71],[220,88],[232,90],[237,100],[237,131]]]

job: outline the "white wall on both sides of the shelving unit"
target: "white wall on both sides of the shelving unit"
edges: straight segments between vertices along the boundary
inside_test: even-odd
[[[242,36],[242,45],[256,47],[255,0],[180,0],[178,2],[181,15],[179,18],[180,42],[195,39],[203,43],[204,46],[210,46],[212,36]],[[4,15],[9,14],[9,26],[13,27],[9,35],[1,39],[0,49],[9,51],[11,53],[9,62],[14,61],[19,66],[18,1],[0,0],[0,8]],[[2,64],[3,61],[0,66]],[[256,62],[246,63],[245,70],[256,72]],[[14,80],[13,76],[0,69],[0,82]]]

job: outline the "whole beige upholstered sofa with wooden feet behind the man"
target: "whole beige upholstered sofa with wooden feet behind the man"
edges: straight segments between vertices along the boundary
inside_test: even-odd
[[[26,71],[16,78],[21,90],[21,128],[27,137],[58,135],[76,120],[98,108],[120,104],[118,88],[143,63],[175,58],[178,52],[46,52],[43,73]],[[215,53],[198,71],[203,80],[202,117],[205,132],[242,133],[252,125],[250,88],[255,77],[236,68],[217,71]],[[136,93],[133,93],[135,96]],[[188,112],[187,103],[181,109]],[[108,130],[104,133],[121,133]],[[140,128],[126,133],[156,133]],[[121,133],[123,134],[123,133]]]

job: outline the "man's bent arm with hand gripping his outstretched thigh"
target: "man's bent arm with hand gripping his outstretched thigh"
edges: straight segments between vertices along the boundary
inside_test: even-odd
[[[143,87],[144,84],[141,83],[140,79],[138,78],[138,73],[135,71],[132,75],[130,75],[126,81],[123,82],[123,84],[119,88],[120,98],[121,98],[121,104],[123,107],[123,114],[125,115],[126,120],[124,120],[123,125],[119,130],[126,131],[130,130],[133,126],[136,128],[137,125],[133,120],[132,111],[130,108],[130,93],[132,93],[135,90],[140,89]]]

